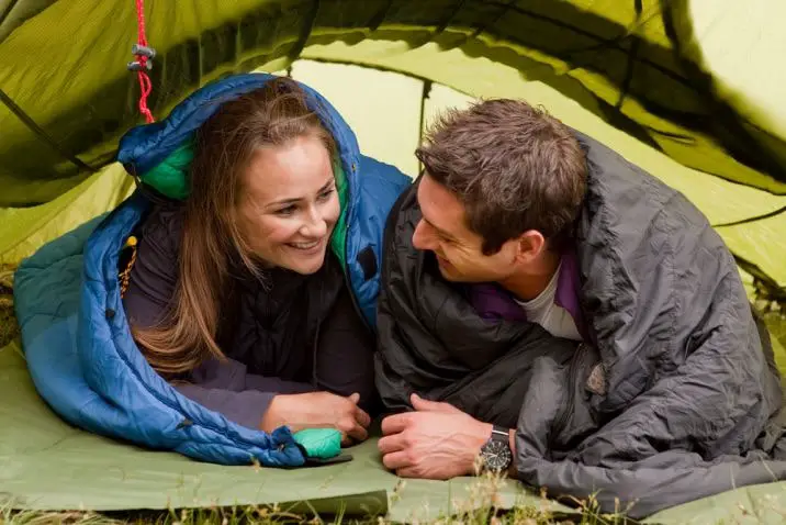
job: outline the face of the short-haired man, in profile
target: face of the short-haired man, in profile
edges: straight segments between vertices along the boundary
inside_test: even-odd
[[[483,255],[483,239],[467,226],[464,205],[428,174],[417,189],[423,219],[412,236],[417,249],[434,252],[439,271],[449,281],[494,282],[516,269],[518,242],[506,242],[499,252]]]

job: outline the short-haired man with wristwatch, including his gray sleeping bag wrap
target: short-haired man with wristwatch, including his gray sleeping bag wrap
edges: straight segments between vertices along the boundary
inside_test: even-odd
[[[379,442],[402,477],[507,470],[632,517],[786,477],[778,372],[682,194],[525,102],[445,115],[389,219]]]

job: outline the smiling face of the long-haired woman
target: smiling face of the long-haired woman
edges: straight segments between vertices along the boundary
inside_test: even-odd
[[[240,231],[272,266],[314,273],[340,205],[330,155],[313,135],[256,150],[242,175]]]

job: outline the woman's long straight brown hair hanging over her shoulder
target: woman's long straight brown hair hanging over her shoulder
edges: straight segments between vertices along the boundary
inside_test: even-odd
[[[196,132],[171,308],[159,325],[132,327],[159,373],[173,376],[211,356],[224,358],[216,334],[233,289],[233,265],[260,273],[237,223],[242,174],[257,148],[304,135],[322,139],[335,158],[335,141],[306,105],[305,92],[283,77],[223,103]]]

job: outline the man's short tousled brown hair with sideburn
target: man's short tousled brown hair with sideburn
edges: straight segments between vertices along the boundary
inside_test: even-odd
[[[586,159],[571,130],[546,111],[509,99],[448,111],[415,155],[464,204],[485,255],[528,230],[555,249],[571,236]]]

